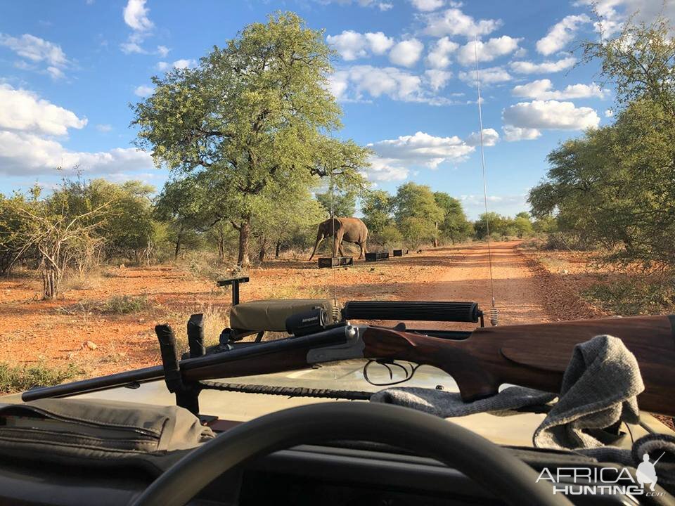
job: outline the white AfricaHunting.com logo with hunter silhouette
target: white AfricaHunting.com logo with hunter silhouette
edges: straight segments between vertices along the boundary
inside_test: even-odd
[[[665,453],[664,453],[665,454]],[[663,457],[663,455],[661,457]],[[643,455],[643,462],[638,465],[635,474],[629,469],[622,467],[557,467],[551,472],[548,467],[541,469],[539,481],[550,481],[553,485],[553,493],[565,495],[645,495],[647,497],[660,497],[663,492],[656,492],[655,486],[658,481],[656,464],[649,460],[649,455]]]

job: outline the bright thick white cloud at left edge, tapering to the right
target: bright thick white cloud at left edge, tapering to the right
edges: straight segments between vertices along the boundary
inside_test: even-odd
[[[86,125],[86,118],[80,119],[75,112],[8,84],[0,84],[0,103],[0,129],[63,136],[69,128]]]

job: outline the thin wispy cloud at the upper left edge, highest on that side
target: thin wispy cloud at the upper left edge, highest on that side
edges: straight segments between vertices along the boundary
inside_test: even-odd
[[[63,79],[63,69],[70,65],[63,49],[58,44],[40,39],[31,34],[23,34],[21,37],[11,37],[0,34],[0,46],[6,46],[24,60],[15,65],[25,70],[35,70],[38,63],[44,63],[43,72],[49,74],[52,79]],[[33,65],[27,63],[30,61]]]

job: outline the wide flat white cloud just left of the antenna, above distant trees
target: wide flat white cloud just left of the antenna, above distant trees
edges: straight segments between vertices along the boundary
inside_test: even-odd
[[[417,165],[436,169],[443,162],[463,162],[475,150],[458,136],[436,137],[418,131],[368,144],[375,153],[394,165]]]

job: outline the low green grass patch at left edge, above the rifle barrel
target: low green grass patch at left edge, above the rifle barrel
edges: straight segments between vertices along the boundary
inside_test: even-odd
[[[65,368],[52,368],[44,363],[10,365],[0,362],[0,394],[13,394],[37,386],[50,387],[81,374],[82,370],[72,363]]]

